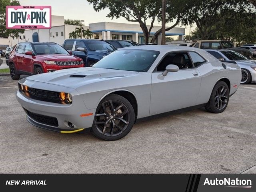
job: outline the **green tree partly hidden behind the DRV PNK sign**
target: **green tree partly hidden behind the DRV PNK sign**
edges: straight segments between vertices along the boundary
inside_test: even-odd
[[[6,6],[19,6],[17,0],[0,0],[0,38],[18,37],[19,32],[24,33],[24,29],[6,29]]]

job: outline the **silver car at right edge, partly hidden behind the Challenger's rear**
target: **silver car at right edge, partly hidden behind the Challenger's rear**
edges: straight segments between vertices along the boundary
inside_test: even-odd
[[[256,60],[249,60],[238,52],[232,50],[206,50],[215,58],[222,58],[224,61],[235,61],[241,68],[241,84],[256,83]]]

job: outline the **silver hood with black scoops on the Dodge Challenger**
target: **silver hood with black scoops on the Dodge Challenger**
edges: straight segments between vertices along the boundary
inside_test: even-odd
[[[85,84],[106,81],[113,78],[123,78],[127,76],[133,76],[136,74],[138,74],[138,72],[82,67],[57,70],[54,72],[28,76],[26,80],[44,82],[48,84],[60,85],[76,89],[77,87],[80,87]]]

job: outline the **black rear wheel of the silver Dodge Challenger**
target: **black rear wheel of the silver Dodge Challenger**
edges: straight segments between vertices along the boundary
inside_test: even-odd
[[[210,99],[205,106],[206,111],[211,113],[221,113],[227,106],[229,101],[229,88],[224,81],[218,81],[210,96]]]

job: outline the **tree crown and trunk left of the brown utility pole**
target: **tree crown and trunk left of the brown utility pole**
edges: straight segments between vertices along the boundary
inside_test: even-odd
[[[93,5],[94,10],[100,11],[108,8],[109,18],[124,17],[129,22],[138,22],[148,43],[150,32],[156,16],[158,16],[162,2],[160,0],[87,0]],[[150,19],[149,28],[146,20]]]

